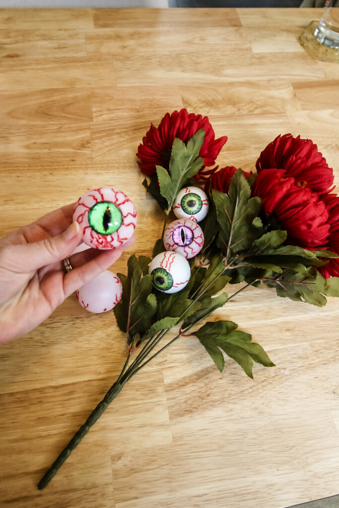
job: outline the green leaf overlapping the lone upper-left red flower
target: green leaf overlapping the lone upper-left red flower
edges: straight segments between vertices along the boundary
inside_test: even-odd
[[[160,192],[167,201],[168,212],[179,190],[203,166],[204,160],[199,157],[199,152],[204,142],[204,136],[204,130],[200,129],[189,140],[187,146],[179,138],[175,138],[172,145],[169,171],[167,172],[166,169],[157,166]]]

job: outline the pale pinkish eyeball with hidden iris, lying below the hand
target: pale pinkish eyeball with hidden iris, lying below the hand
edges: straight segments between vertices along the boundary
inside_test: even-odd
[[[122,295],[122,285],[115,273],[106,270],[84,284],[75,294],[82,307],[98,314],[115,307]]]

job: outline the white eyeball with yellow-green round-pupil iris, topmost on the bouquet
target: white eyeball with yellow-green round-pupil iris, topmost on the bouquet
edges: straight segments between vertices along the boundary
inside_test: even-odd
[[[207,194],[199,187],[181,189],[173,203],[173,212],[179,219],[189,218],[200,222],[207,215],[209,203]]]

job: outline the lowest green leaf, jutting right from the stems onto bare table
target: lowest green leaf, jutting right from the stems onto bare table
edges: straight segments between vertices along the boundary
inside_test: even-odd
[[[230,321],[208,322],[194,334],[221,372],[225,362],[220,350],[233,358],[251,378],[253,378],[253,361],[265,367],[273,367],[274,364],[263,348],[252,342],[252,336],[249,333],[236,330],[236,328],[237,325]]]

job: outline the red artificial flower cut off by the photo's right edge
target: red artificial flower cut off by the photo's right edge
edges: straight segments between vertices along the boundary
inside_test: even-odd
[[[331,252],[339,254],[339,197],[335,194],[324,196],[323,200],[329,217],[327,224],[330,227],[327,248]],[[339,258],[330,259],[326,265],[318,268],[320,273],[328,279],[329,277],[339,277]]]

